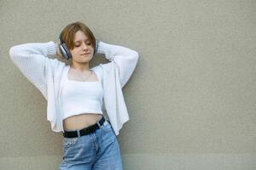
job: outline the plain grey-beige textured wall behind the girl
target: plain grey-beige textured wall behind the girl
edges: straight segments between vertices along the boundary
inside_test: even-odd
[[[256,169],[256,1],[0,1],[0,167],[57,169],[61,133],[9,59],[80,20],[140,54],[123,88],[125,170]],[[96,60],[93,65],[99,64]]]

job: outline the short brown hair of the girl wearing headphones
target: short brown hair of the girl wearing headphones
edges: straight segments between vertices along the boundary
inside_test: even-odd
[[[89,42],[91,43],[92,47],[95,48],[96,46],[96,38],[94,37],[92,31],[88,26],[85,26],[84,23],[80,21],[73,22],[67,25],[61,31],[61,40],[66,43],[68,49],[74,48],[74,37],[77,31],[83,31],[84,34],[88,37]]]

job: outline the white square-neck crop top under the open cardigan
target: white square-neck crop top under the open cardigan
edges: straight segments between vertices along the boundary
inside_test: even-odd
[[[67,73],[67,83],[61,92],[62,120],[82,113],[102,114],[102,77],[97,77],[98,82],[79,82],[68,80]]]

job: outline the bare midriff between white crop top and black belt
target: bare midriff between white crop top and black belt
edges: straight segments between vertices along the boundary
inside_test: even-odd
[[[81,115],[70,116],[63,120],[63,127],[65,131],[74,131],[84,127],[89,127],[101,118],[102,114],[100,113],[83,113]]]

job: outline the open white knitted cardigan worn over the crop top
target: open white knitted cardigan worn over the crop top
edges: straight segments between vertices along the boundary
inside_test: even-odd
[[[110,62],[91,68],[102,74],[103,102],[108,119],[116,135],[129,120],[122,88],[135,70],[137,51],[118,45],[99,42],[96,53],[105,54]],[[47,120],[54,132],[64,132],[60,94],[65,75],[70,68],[59,59],[50,59],[56,54],[55,42],[34,42],[15,45],[9,49],[9,56],[22,74],[39,89],[47,100]]]

